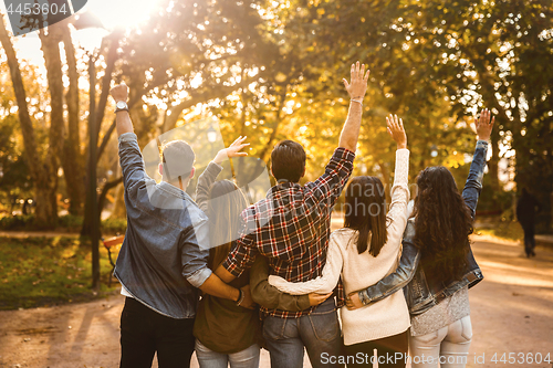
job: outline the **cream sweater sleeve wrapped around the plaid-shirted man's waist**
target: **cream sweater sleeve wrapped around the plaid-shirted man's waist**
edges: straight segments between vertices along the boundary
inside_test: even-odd
[[[303,295],[310,293],[327,294],[331,293],[337,285],[344,257],[342,255],[336,236],[332,236],[328,241],[328,252],[326,254],[326,263],[324,264],[322,275],[306,282],[289,282],[285,278],[276,275],[269,276],[269,284],[275,286],[283,293],[292,295]]]

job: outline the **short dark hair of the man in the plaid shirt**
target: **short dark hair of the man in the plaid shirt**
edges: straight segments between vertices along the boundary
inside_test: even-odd
[[[290,139],[281,140],[271,153],[271,169],[278,181],[300,181],[305,170],[305,150]]]

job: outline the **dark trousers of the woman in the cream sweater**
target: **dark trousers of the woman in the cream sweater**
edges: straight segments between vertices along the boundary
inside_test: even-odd
[[[407,350],[409,349],[409,329],[399,335],[394,335],[385,338],[379,338],[377,340],[346,345],[345,354],[347,359],[347,367],[367,367],[367,362],[372,360],[366,360],[373,357],[373,350],[377,350],[378,355],[378,368],[405,368],[405,358],[407,357]],[[361,354],[359,354],[361,353]],[[357,357],[363,357],[363,359],[356,359]],[[372,365],[368,365],[371,367]]]

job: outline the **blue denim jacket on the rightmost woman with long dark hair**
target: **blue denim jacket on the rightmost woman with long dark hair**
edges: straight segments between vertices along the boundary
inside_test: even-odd
[[[470,209],[472,219],[476,214],[478,197],[482,190],[482,178],[486,168],[488,143],[479,140],[470,165],[470,172],[462,190],[465,203]],[[467,269],[461,280],[445,284],[444,280],[431,280],[425,275],[419,266],[420,249],[415,245],[415,221],[409,219],[404,233],[403,253],[397,270],[380,280],[373,286],[359,291],[359,299],[364,305],[378,302],[395,292],[404,288],[405,297],[411,315],[418,315],[430,309],[446,297],[465,286],[472,287],[483,280],[482,271],[478,266],[472,250],[467,254]]]

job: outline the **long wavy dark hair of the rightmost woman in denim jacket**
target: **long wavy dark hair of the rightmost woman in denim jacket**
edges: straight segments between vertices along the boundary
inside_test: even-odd
[[[461,278],[472,233],[470,209],[442,166],[420,171],[417,186],[415,241],[422,251],[421,265],[441,278]]]

